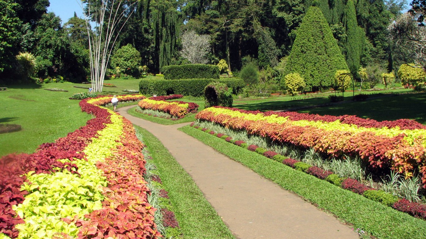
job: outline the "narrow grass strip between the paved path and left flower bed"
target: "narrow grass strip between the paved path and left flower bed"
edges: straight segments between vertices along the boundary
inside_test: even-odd
[[[176,219],[187,239],[235,239],[191,176],[176,162],[167,148],[146,129],[134,125],[147,145],[152,162],[176,208]]]

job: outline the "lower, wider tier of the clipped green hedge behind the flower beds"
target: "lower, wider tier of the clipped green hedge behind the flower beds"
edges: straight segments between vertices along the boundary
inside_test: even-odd
[[[211,82],[219,81],[225,83],[232,88],[233,94],[238,94],[245,83],[242,79],[180,79],[180,80],[165,80],[165,79],[141,79],[139,82],[140,94],[149,95],[169,95],[183,94],[185,96],[202,96],[204,88]]]

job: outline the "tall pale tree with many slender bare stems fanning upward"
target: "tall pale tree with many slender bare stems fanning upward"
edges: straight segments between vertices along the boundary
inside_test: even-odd
[[[76,1],[79,2],[79,0]],[[81,0],[79,2],[85,13],[89,37],[90,78],[95,92],[102,92],[112,48],[121,29],[134,12],[137,2],[137,0]],[[95,25],[94,34],[91,24]]]

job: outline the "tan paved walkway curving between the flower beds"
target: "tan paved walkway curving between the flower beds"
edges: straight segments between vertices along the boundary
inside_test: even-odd
[[[178,131],[118,113],[155,135],[193,178],[238,239],[357,239],[347,225],[210,146]]]

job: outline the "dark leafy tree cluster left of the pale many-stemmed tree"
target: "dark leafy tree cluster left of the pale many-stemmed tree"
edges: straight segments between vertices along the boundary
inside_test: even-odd
[[[75,16],[62,25],[55,13],[47,13],[48,6],[48,0],[0,0],[2,82],[24,83],[58,76],[70,81],[86,79],[84,21]]]

